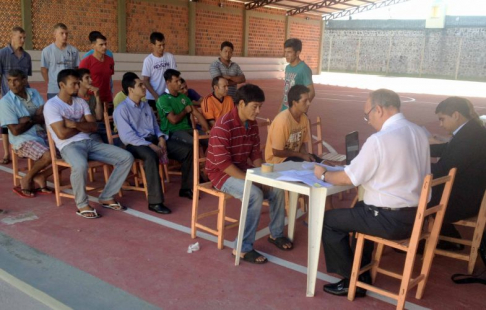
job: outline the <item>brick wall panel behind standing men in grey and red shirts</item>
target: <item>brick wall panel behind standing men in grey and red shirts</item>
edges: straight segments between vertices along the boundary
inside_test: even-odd
[[[52,27],[57,23],[64,23],[69,30],[69,43],[80,51],[91,49],[88,34],[98,30],[107,37],[108,48],[116,52],[118,50],[116,6],[116,0],[32,0],[34,49],[41,50],[54,42]]]

